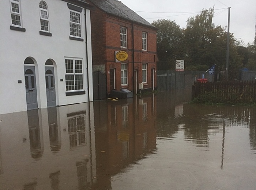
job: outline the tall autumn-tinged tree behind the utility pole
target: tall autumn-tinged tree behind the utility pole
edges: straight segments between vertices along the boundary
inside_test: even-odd
[[[212,23],[214,8],[204,9],[199,15],[187,20],[184,29],[184,44],[187,52],[187,70],[210,68],[216,64],[216,69],[226,69],[227,32],[221,26]],[[233,33],[230,34],[229,45],[229,78],[238,79],[239,69],[242,68],[242,58],[237,53],[238,41]],[[203,67],[204,66],[204,67]]]

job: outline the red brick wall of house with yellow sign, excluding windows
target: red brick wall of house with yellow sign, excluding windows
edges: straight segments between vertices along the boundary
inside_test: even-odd
[[[120,47],[120,26],[127,28],[127,48]],[[157,69],[157,31],[156,29],[139,24],[132,24],[130,21],[118,17],[109,16],[95,7],[91,10],[91,31],[93,46],[93,64],[106,64],[107,93],[110,93],[109,70],[115,69],[116,90],[125,88],[134,90],[133,72],[137,70],[138,83],[142,83],[142,63],[147,64],[147,83],[144,88],[152,88],[151,69]],[[142,51],[142,32],[147,33],[147,51]],[[134,43],[134,64],[133,64],[133,43]],[[115,51],[126,51],[128,59],[128,86],[121,86],[121,63],[115,62]],[[134,66],[134,67],[133,67]],[[156,86],[156,75],[154,75]]]

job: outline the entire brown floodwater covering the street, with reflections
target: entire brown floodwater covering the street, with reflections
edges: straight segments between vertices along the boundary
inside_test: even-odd
[[[188,98],[0,115],[0,189],[256,189],[256,108],[183,104]]]

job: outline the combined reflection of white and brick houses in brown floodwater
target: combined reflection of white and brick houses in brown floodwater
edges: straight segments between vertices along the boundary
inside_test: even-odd
[[[155,99],[0,115],[0,189],[111,189],[113,175],[156,149]]]

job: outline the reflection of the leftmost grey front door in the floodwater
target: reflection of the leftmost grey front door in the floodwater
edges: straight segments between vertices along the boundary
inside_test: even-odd
[[[32,158],[41,158],[44,149],[41,146],[40,126],[38,110],[27,111],[27,120],[29,123],[29,140]]]

